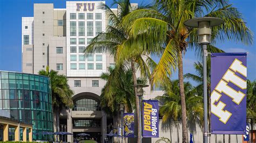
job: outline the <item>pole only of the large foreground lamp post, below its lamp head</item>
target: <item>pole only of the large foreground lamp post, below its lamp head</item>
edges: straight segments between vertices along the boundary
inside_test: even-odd
[[[204,74],[204,142],[208,142],[208,119],[207,119],[207,64],[206,64],[206,57],[207,57],[207,45],[203,44],[203,74]]]

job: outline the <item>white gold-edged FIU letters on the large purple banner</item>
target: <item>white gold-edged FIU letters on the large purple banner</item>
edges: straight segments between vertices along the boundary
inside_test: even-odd
[[[230,68],[227,69],[226,73],[219,81],[215,89],[211,93],[211,112],[219,117],[219,120],[224,124],[227,123],[228,119],[232,116],[232,113],[224,110],[226,104],[219,101],[221,93],[232,98],[232,101],[237,105],[240,104],[242,99],[244,99],[245,94],[241,91],[236,91],[232,87],[228,86],[228,82],[233,83],[240,89],[246,89],[246,81],[241,77],[237,76],[235,73],[239,73],[242,76],[246,77],[246,67],[242,65],[242,62],[238,59],[235,59],[231,64]],[[217,104],[215,104],[217,102]]]

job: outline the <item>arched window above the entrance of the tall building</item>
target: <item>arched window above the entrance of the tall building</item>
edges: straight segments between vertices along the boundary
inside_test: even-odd
[[[79,99],[75,101],[74,104],[73,111],[100,111],[99,102],[93,99]]]

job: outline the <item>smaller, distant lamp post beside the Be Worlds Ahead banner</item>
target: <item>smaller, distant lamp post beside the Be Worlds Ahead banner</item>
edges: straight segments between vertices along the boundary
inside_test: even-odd
[[[139,97],[139,128],[140,128],[140,143],[142,143],[142,97],[143,97],[143,88],[149,87],[146,84],[137,84],[134,85],[137,87],[137,96]]]

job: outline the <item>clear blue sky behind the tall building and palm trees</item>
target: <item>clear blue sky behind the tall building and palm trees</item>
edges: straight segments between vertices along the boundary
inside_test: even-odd
[[[149,3],[151,0],[131,0],[132,3]],[[22,17],[33,16],[33,3],[54,3],[55,8],[65,8],[64,0],[0,0],[0,70],[22,71],[21,27]],[[110,5],[112,0],[107,0]],[[256,1],[230,1],[242,13],[253,33],[256,32]],[[254,42],[256,41],[254,37]],[[255,44],[246,46],[234,41],[225,41],[215,45],[226,52],[248,52],[248,79],[256,79]],[[184,74],[194,73],[193,63],[198,61],[193,51],[187,51],[184,58]],[[177,78],[177,73],[173,75]]]

